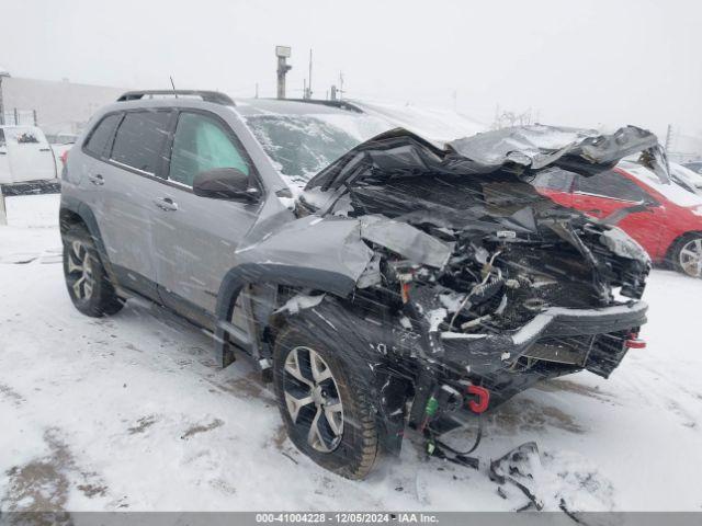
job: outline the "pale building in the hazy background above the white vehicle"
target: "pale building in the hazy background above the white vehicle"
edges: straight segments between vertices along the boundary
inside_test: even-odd
[[[45,134],[76,134],[122,88],[11,77],[0,67],[0,124],[32,124]]]

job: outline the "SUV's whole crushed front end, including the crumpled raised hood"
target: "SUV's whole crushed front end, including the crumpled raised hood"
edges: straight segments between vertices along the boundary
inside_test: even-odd
[[[529,184],[553,165],[598,173],[636,148],[661,159],[655,137],[623,129],[614,139],[580,134],[562,149],[487,156],[491,164],[466,157],[473,144],[444,151],[396,132],[308,184],[302,208],[356,219],[373,251],[354,301],[393,319],[384,352],[390,376],[411,379],[411,426],[446,426],[452,413],[483,412],[581,369],[607,378],[643,345],[647,254]],[[489,137],[477,137],[487,148]]]

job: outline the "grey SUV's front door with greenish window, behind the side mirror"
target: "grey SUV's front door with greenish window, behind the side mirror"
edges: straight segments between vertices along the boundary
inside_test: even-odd
[[[163,204],[154,220],[161,300],[206,324],[235,250],[258,217],[259,203],[214,199],[193,193],[197,173],[236,168],[261,188],[253,163],[230,127],[210,112],[182,111],[170,148]]]

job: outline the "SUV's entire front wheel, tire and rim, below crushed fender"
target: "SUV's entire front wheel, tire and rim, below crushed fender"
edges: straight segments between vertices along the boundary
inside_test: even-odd
[[[275,343],[275,393],[299,450],[330,471],[362,479],[377,459],[378,430],[367,363],[344,343],[322,341],[306,323],[283,329]]]

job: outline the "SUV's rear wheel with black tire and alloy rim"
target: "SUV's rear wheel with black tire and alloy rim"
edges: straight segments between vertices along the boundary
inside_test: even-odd
[[[61,240],[66,288],[76,308],[92,318],[118,312],[124,300],[117,297],[88,229],[72,225]]]

